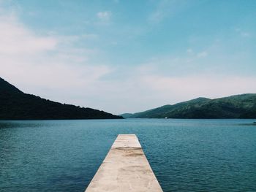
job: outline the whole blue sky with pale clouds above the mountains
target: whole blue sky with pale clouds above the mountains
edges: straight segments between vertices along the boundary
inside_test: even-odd
[[[113,114],[256,93],[256,1],[0,0],[0,77]]]

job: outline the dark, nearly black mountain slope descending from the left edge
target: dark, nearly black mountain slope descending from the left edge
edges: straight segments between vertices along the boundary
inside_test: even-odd
[[[26,94],[0,78],[0,120],[118,119],[108,112]]]

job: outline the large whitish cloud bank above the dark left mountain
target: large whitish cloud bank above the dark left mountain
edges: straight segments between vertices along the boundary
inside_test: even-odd
[[[95,37],[39,36],[15,15],[1,16],[0,77],[46,99],[74,103],[70,98],[78,94],[83,97],[80,105],[88,106],[88,90],[95,88],[110,68],[90,61],[91,55],[97,54],[95,50],[78,49],[73,44],[79,38]]]

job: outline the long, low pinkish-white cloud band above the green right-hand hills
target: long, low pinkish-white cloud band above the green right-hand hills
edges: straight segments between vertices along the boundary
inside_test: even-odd
[[[201,74],[186,77],[162,77],[148,75],[142,81],[154,91],[164,91],[171,96],[195,98],[197,96],[229,96],[256,90],[256,77],[224,77],[216,74]]]

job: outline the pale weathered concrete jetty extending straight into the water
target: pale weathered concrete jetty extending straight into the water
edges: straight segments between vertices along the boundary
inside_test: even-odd
[[[86,192],[162,192],[135,134],[119,134]]]

